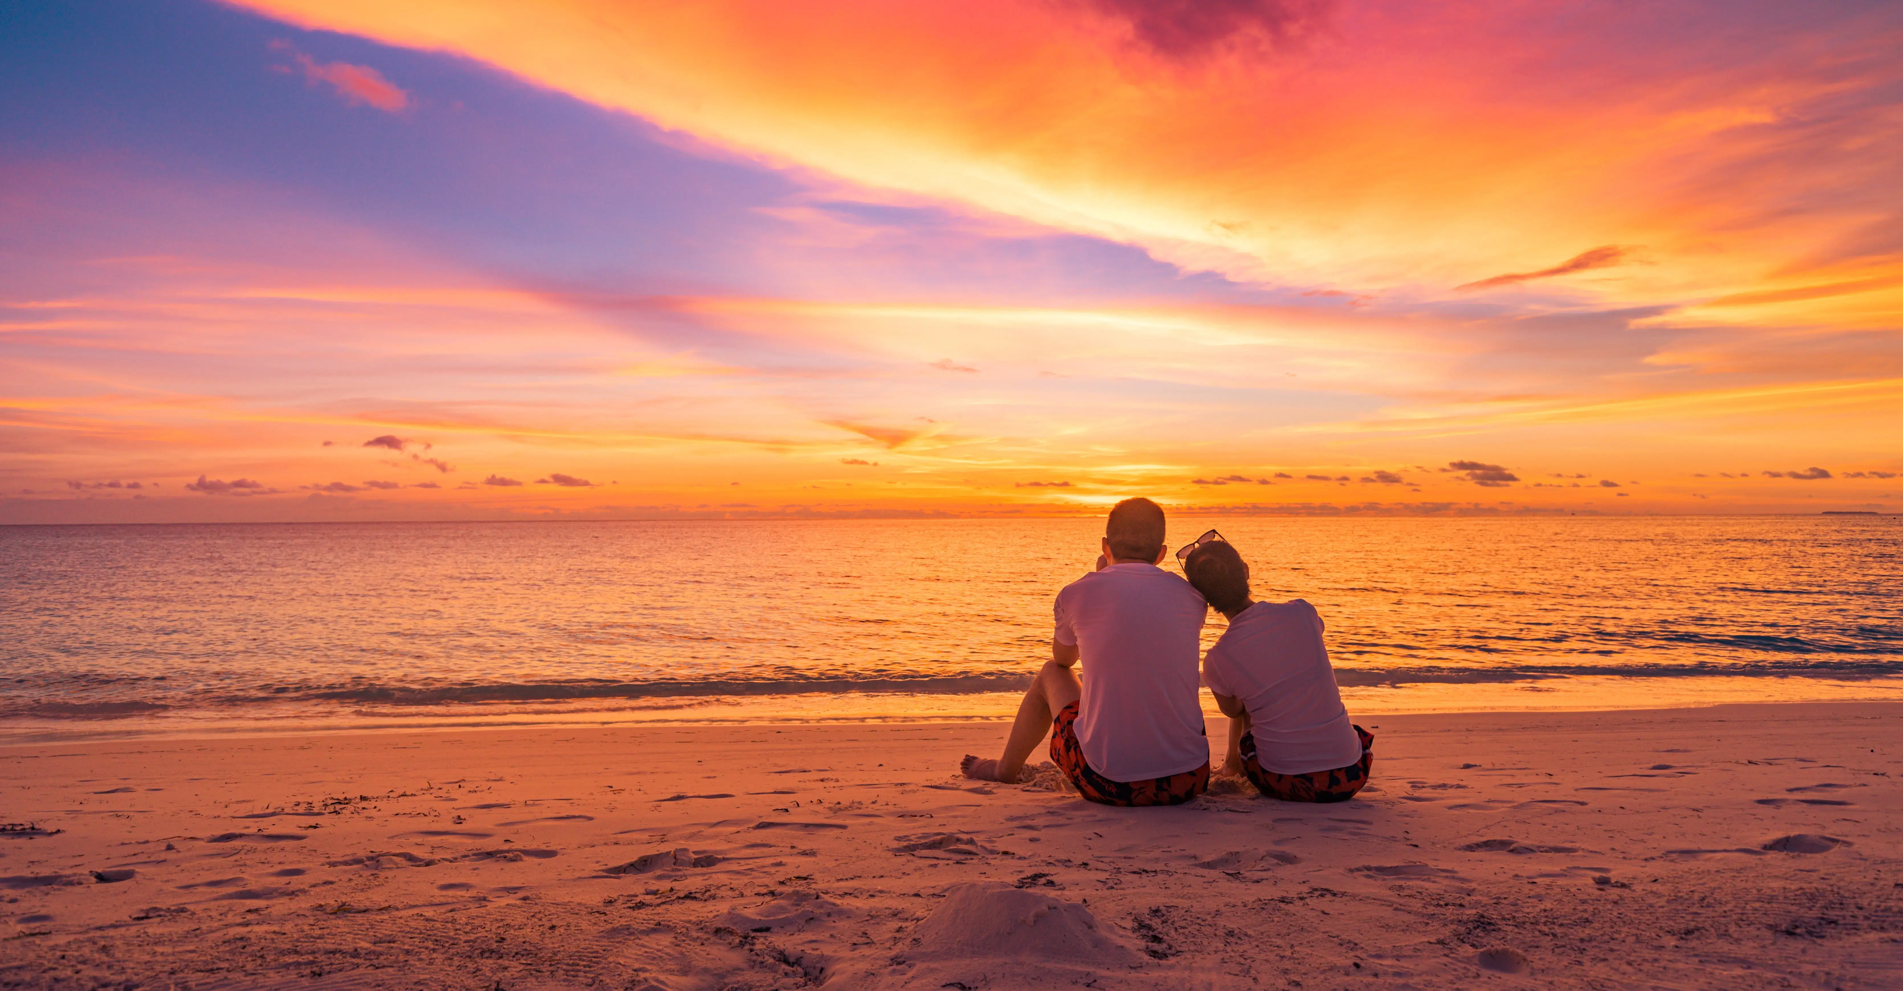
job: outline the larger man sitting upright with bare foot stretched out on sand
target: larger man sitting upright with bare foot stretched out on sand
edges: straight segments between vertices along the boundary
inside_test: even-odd
[[[1208,787],[1197,698],[1208,605],[1157,567],[1163,536],[1155,502],[1127,498],[1109,510],[1098,571],[1058,592],[1050,660],[1024,692],[1005,755],[967,755],[967,778],[1016,782],[1049,730],[1050,759],[1094,803],[1178,805]]]

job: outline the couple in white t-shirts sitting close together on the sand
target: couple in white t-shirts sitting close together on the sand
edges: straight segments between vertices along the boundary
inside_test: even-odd
[[[1085,799],[1178,805],[1208,787],[1208,738],[1197,698],[1197,643],[1208,607],[1229,630],[1203,658],[1201,681],[1229,717],[1218,774],[1246,774],[1269,797],[1334,803],[1361,791],[1374,736],[1347,721],[1321,616],[1302,599],[1248,597],[1248,565],[1216,531],[1163,571],[1163,508],[1127,498],[1109,512],[1096,573],[1064,586],[1050,660],[1024,692],[1005,755],[965,757],[965,776],[1016,782],[1045,732],[1050,759]],[[1090,677],[1079,679],[1077,660]]]

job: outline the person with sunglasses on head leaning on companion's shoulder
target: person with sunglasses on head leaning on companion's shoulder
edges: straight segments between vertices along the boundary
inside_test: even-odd
[[[1229,630],[1203,658],[1203,681],[1229,717],[1220,774],[1246,774],[1273,799],[1338,803],[1368,784],[1374,736],[1347,721],[1321,614],[1248,597],[1248,565],[1216,531],[1184,548],[1184,573]]]

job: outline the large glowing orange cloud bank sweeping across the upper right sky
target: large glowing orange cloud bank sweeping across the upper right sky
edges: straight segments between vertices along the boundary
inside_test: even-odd
[[[1600,302],[1751,293],[1869,242],[1903,167],[1855,139],[1888,127],[1897,30],[1850,15],[1756,46],[1722,6],[244,2],[866,186],[1355,293],[1610,264],[1515,268],[1581,243],[1656,261],[1568,287]]]

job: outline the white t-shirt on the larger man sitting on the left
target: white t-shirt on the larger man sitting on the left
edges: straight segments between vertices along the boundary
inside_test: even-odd
[[[1113,782],[1208,763],[1195,652],[1208,616],[1189,582],[1155,565],[1111,565],[1058,592],[1056,641],[1083,660],[1077,744]]]

